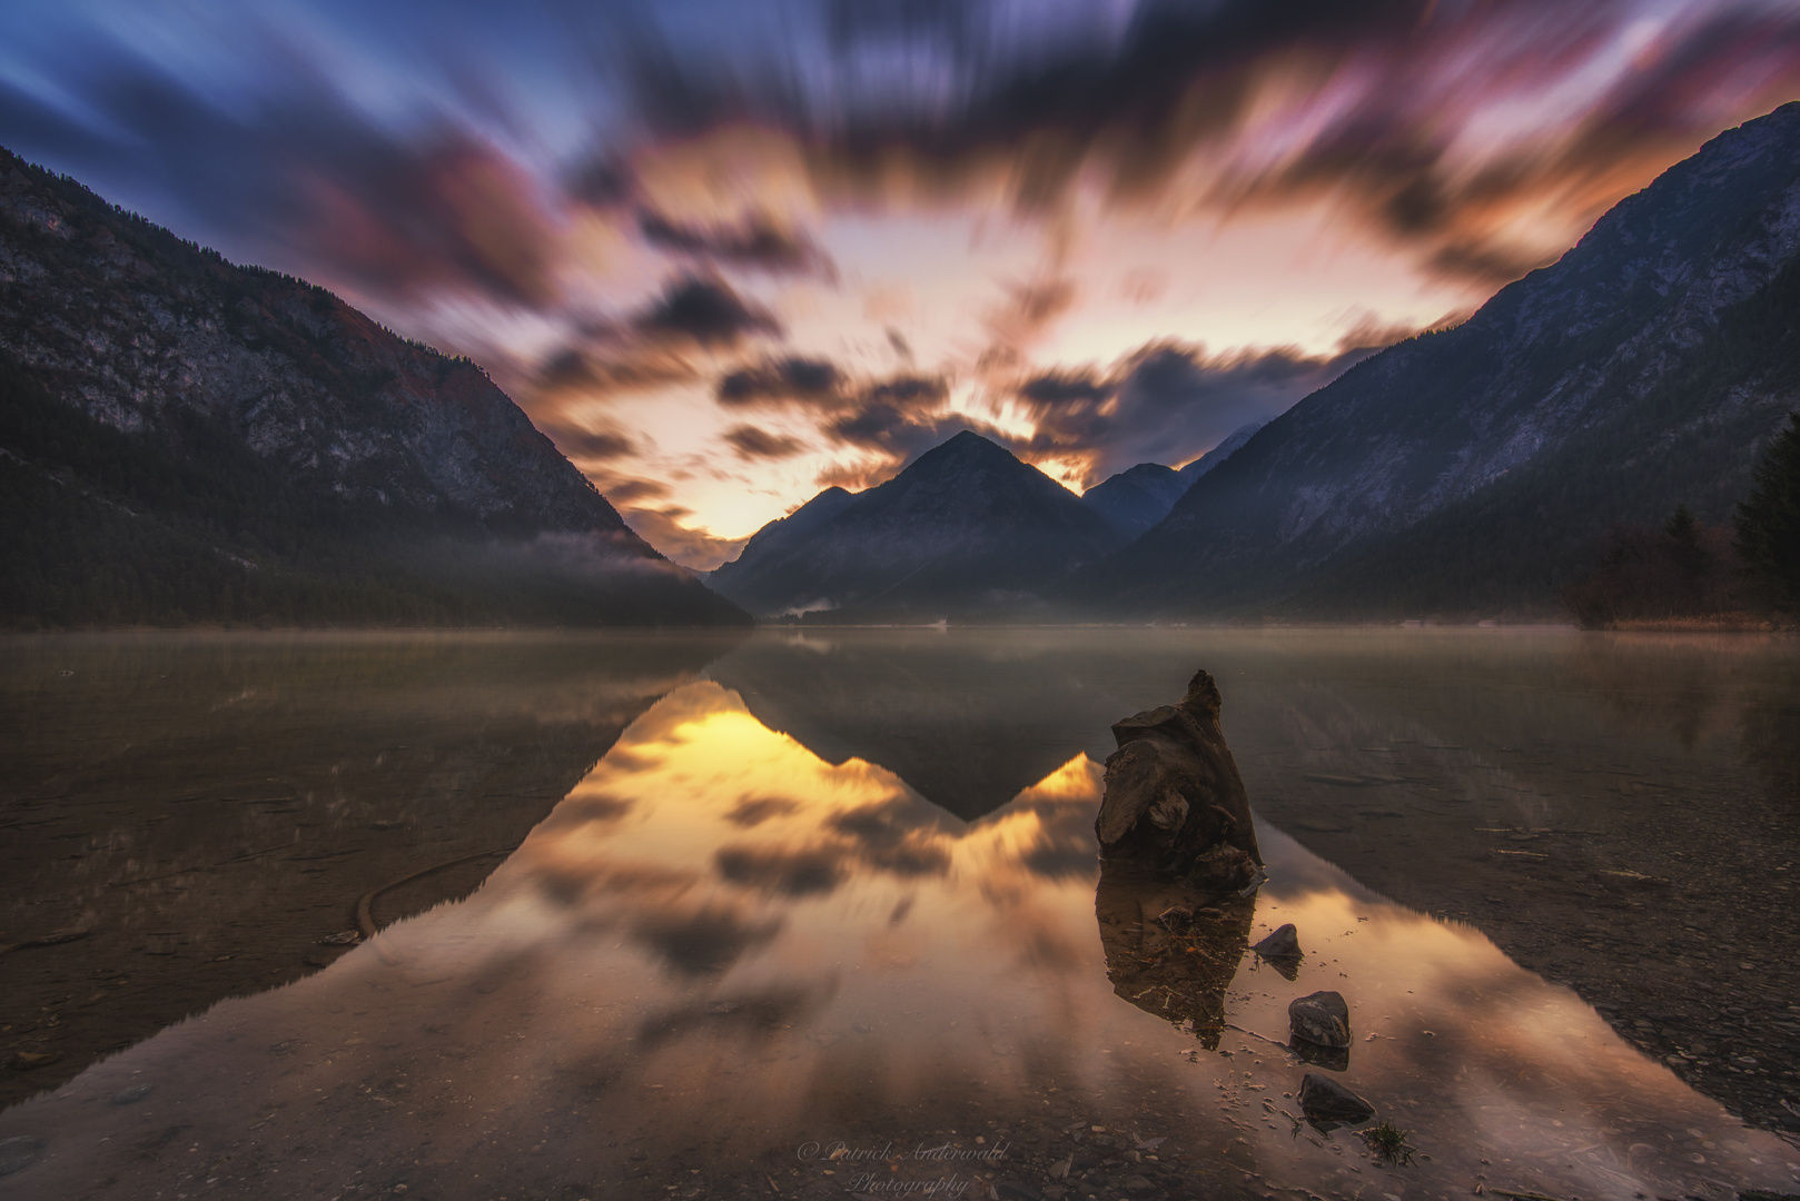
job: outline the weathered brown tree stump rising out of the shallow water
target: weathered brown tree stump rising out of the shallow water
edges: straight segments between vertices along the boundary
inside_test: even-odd
[[[1186,877],[1213,895],[1262,875],[1249,798],[1219,729],[1219,686],[1195,672],[1181,704],[1112,726],[1105,798],[1094,819],[1102,853]]]

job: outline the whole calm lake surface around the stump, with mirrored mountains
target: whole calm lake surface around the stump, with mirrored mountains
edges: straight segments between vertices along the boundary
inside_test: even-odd
[[[1093,821],[1195,668],[1269,879],[1172,940]],[[1800,1192],[1791,637],[68,636],[0,706],[0,1197]]]

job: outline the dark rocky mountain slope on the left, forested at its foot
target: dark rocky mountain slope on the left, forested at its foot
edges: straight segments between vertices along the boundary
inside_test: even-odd
[[[0,625],[745,618],[470,360],[0,151]]]

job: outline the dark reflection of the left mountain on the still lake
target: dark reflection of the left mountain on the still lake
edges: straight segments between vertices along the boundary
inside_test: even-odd
[[[468,893],[734,641],[0,639],[0,1104]]]

